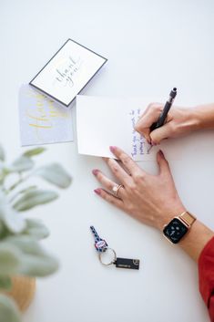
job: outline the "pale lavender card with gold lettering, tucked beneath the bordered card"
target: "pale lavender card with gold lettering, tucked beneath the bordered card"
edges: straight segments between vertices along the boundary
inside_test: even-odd
[[[73,140],[71,110],[27,84],[19,91],[19,120],[23,146]]]

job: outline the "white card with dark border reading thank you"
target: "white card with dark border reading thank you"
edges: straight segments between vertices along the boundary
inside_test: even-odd
[[[67,107],[106,62],[106,58],[68,39],[30,85]]]

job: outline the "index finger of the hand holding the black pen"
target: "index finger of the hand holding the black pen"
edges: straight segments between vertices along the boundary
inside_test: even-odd
[[[148,105],[148,108],[142,114],[140,119],[138,119],[135,130],[142,134],[146,138],[146,140],[148,140],[148,143],[151,142],[150,127],[154,122],[158,120],[159,114],[162,109],[162,104],[151,103]]]

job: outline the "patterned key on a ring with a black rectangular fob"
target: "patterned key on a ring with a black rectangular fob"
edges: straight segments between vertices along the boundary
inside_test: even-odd
[[[117,257],[117,254],[114,249],[108,247],[107,242],[100,238],[97,234],[97,231],[94,226],[90,226],[91,232],[95,237],[95,248],[98,253],[98,259],[102,265],[116,265],[117,268],[129,268],[129,269],[139,269],[139,260],[138,259],[129,259]],[[108,263],[104,263],[102,255],[106,252],[112,253],[112,260]]]

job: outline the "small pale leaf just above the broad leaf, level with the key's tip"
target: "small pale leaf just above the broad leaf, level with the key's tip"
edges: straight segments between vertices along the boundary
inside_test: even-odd
[[[36,240],[46,238],[49,231],[46,226],[37,219],[26,219],[26,228],[23,234],[28,234]]]

